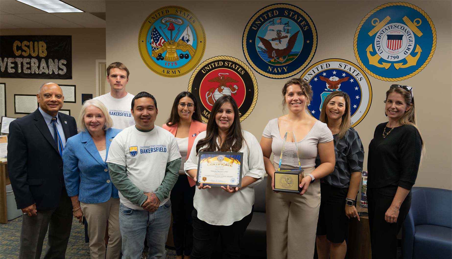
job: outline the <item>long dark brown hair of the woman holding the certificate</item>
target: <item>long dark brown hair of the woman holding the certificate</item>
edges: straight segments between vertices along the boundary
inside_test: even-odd
[[[215,121],[215,115],[226,102],[231,103],[232,109],[234,110],[234,121],[226,134],[226,138],[221,143],[221,147],[219,147],[217,144],[218,125]],[[207,120],[206,137],[199,140],[196,144],[196,153],[199,154],[200,151],[239,152],[244,140],[237,103],[230,95],[223,95],[213,104],[212,112],[210,113],[209,120]],[[202,148],[205,145],[207,147]],[[200,150],[200,148],[202,149]]]

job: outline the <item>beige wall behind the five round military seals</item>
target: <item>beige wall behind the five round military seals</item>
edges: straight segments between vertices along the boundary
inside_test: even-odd
[[[387,1],[287,1],[301,7],[315,23],[318,48],[311,64],[342,58],[353,63],[353,35],[358,23],[373,8]],[[227,55],[246,62],[241,39],[245,24],[267,1],[107,1],[107,64],[121,61],[130,70],[129,92],[148,91],[155,95],[159,108],[156,124],[169,116],[176,93],[187,89],[191,73],[166,78],[153,73],[141,60],[137,40],[141,23],[155,9],[179,5],[192,11],[201,21],[207,37],[202,58]],[[451,189],[451,1],[411,1],[433,19],[438,42],[427,67],[403,84],[415,88],[419,128],[427,146],[427,156],[419,170],[417,186]],[[333,37],[332,37],[333,36]],[[332,40],[334,38],[334,40]],[[286,79],[268,79],[254,72],[259,85],[259,98],[254,111],[242,122],[244,129],[258,140],[268,120],[282,115],[280,90]],[[301,74],[298,74],[299,77]],[[385,92],[390,83],[369,77],[373,100],[365,119],[356,126],[365,151],[375,126],[386,120],[383,113]],[[439,101],[440,97],[447,100]],[[367,156],[364,170],[367,169]]]

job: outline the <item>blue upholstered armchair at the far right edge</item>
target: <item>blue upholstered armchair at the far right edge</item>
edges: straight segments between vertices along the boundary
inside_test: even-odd
[[[403,259],[452,258],[452,191],[413,187],[402,228]]]

